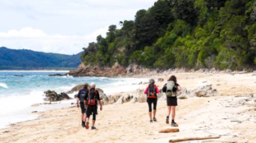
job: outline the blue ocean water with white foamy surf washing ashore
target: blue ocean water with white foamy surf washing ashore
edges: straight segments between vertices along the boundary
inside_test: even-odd
[[[0,71],[0,128],[8,124],[32,120],[31,105],[44,101],[44,91],[67,92],[75,85],[95,82],[97,88],[110,95],[140,88],[146,78],[108,78],[49,76],[67,71]],[[74,94],[70,95],[73,98]],[[65,102],[65,101],[64,101]],[[60,105],[61,106],[61,105]]]

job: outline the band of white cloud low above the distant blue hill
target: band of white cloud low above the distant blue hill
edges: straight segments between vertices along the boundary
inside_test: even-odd
[[[48,35],[42,30],[24,27],[0,33],[0,46],[15,49],[75,54],[82,51],[89,42],[96,41],[98,35],[105,36],[108,27],[100,28],[87,35]]]

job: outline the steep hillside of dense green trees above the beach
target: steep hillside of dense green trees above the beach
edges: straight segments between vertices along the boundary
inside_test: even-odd
[[[256,65],[256,1],[159,0],[109,26],[84,49],[86,65],[242,70]]]

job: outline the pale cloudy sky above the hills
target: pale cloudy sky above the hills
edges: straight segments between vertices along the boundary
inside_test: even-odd
[[[157,0],[0,0],[0,47],[76,54]]]

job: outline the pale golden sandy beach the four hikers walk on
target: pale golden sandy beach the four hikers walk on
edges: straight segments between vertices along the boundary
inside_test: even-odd
[[[172,74],[137,75],[164,78]],[[80,125],[80,108],[37,112],[39,119],[0,130],[0,142],[168,142],[169,139],[220,135],[218,139],[187,142],[256,142],[256,73],[175,73],[181,88],[193,90],[212,84],[221,96],[178,100],[176,122],[180,132],[158,133],[165,124],[166,101],[159,100],[155,123],[148,120],[147,103],[104,105],[98,111],[97,130]],[[146,84],[145,84],[146,87]],[[122,93],[127,94],[127,93]],[[186,142],[186,141],[184,141]]]

